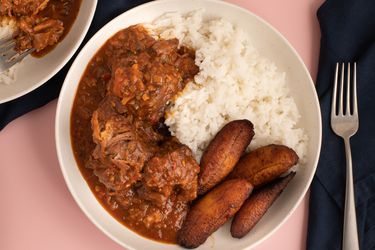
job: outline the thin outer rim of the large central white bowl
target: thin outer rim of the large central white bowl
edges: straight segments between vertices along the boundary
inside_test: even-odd
[[[117,17],[115,17],[110,22],[108,22],[107,24],[105,24],[85,44],[85,46],[81,49],[81,51],[79,52],[79,54],[75,58],[73,64],[71,65],[71,67],[70,67],[70,69],[69,69],[69,71],[68,71],[68,73],[66,75],[66,78],[64,80],[64,83],[63,83],[63,86],[62,86],[62,89],[61,89],[60,93],[66,91],[65,89],[68,86],[66,84],[66,81],[67,81],[67,79],[70,78],[70,76],[72,74],[72,71],[73,71],[73,68],[75,68],[75,67],[78,66],[78,61],[79,61],[78,59],[80,59],[82,57],[83,53],[85,52],[85,50],[87,48],[87,45],[91,44],[100,35],[100,31],[101,30],[107,29],[107,27],[109,27],[113,23],[117,22],[117,20],[120,19],[121,16],[126,15],[128,13],[139,11],[142,8],[148,8],[148,7],[153,6],[153,5],[158,5],[158,4],[160,4],[160,2],[163,2],[164,4],[167,4],[168,2],[178,2],[178,1],[179,0],[163,0],[163,1],[151,1],[151,2],[148,2],[148,3],[144,3],[144,4],[138,5],[138,6],[134,7],[134,8],[132,8],[132,9],[129,9],[129,10],[127,10],[127,11],[119,14]],[[225,2],[225,1],[218,1],[218,0],[195,0],[195,1],[202,1],[202,2],[209,2],[209,3],[221,4],[221,5],[224,5],[224,6],[228,6],[230,8],[234,8],[237,11],[245,12],[247,15],[252,16],[252,18],[257,19],[257,21],[259,21],[263,25],[265,25],[268,29],[270,29],[272,32],[274,32],[289,47],[289,49],[291,50],[291,52],[293,53],[293,55],[298,60],[299,64],[302,66],[304,74],[307,76],[307,78],[309,80],[309,86],[313,90],[313,95],[314,95],[314,103],[313,103],[313,105],[314,105],[314,108],[317,110],[317,114],[316,115],[318,117],[318,121],[317,122],[319,124],[319,126],[316,128],[317,129],[316,136],[317,136],[317,139],[318,139],[317,140],[318,148],[316,149],[315,159],[311,160],[311,162],[312,162],[311,163],[312,171],[311,171],[310,176],[308,177],[308,183],[306,183],[306,185],[304,186],[303,191],[299,194],[297,202],[295,202],[295,204],[292,206],[292,208],[289,210],[289,212],[284,216],[284,218],[275,227],[273,227],[272,230],[270,230],[265,235],[263,235],[259,240],[257,240],[256,242],[254,242],[252,245],[243,248],[243,249],[252,249],[252,248],[258,246],[259,244],[261,244],[262,242],[264,242],[265,240],[267,240],[271,235],[274,234],[275,231],[277,231],[282,225],[284,225],[284,223],[290,218],[290,216],[295,212],[295,210],[297,209],[297,207],[301,204],[301,201],[303,200],[303,198],[305,197],[308,189],[310,188],[311,182],[313,180],[313,177],[315,175],[316,168],[317,168],[317,165],[318,165],[318,161],[319,161],[319,157],[320,157],[320,151],[321,151],[321,142],[322,142],[322,118],[321,118],[321,110],[320,110],[320,105],[319,105],[319,98],[318,98],[317,92],[315,90],[315,84],[314,84],[314,82],[313,82],[313,80],[311,78],[310,72],[307,69],[304,61],[301,58],[301,56],[298,54],[298,52],[296,51],[296,49],[291,45],[291,43],[275,27],[273,27],[270,23],[268,23],[267,21],[265,21],[263,18],[259,17],[258,15],[254,14],[250,10],[245,9],[243,7],[240,7],[240,6],[238,6],[236,4],[233,4],[233,3],[229,3],[229,2]],[[115,33],[113,33],[113,34],[115,34]],[[95,224],[95,226],[97,228],[99,228],[105,235],[107,235],[110,239],[112,239],[113,241],[115,241],[117,244],[119,244],[122,247],[126,247],[128,249],[135,249],[132,246],[126,245],[126,243],[121,242],[119,239],[117,239],[115,236],[113,236],[109,231],[107,231],[105,228],[103,228],[99,224],[99,222],[88,211],[86,211],[83,202],[81,202],[79,196],[75,192],[75,190],[73,188],[73,184],[70,182],[70,179],[68,178],[66,169],[62,166],[63,155],[62,155],[62,149],[61,149],[60,138],[59,138],[59,129],[60,129],[59,117],[60,117],[60,113],[63,112],[61,110],[61,105],[62,105],[61,102],[62,102],[62,99],[59,98],[58,99],[58,103],[57,103],[57,109],[56,109],[56,117],[55,117],[55,141],[56,141],[56,150],[57,150],[57,156],[58,156],[58,161],[59,161],[60,169],[62,171],[62,174],[63,174],[63,177],[64,177],[64,181],[67,184],[70,193],[72,194],[75,202],[78,204],[78,206],[83,211],[83,213],[86,215],[86,217],[89,218],[89,220],[93,224]],[[71,112],[71,110],[69,112]],[[70,127],[69,127],[69,129],[70,129]],[[131,229],[129,229],[129,230],[131,230]],[[140,237],[142,237],[142,238],[144,238],[145,240],[147,239],[147,240],[155,241],[155,240],[152,240],[152,239],[145,238],[142,235],[139,235],[139,234],[137,234],[137,235],[140,236]],[[155,241],[155,243],[160,243],[160,242]]]

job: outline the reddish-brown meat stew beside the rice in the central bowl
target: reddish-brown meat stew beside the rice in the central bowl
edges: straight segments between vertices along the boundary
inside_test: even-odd
[[[197,72],[194,52],[177,39],[131,26],[91,59],[71,112],[74,155],[95,197],[120,223],[161,242],[176,242],[197,195],[191,150],[163,132],[169,101]]]

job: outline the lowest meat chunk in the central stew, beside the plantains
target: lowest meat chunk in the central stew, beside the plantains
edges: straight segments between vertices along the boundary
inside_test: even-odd
[[[164,204],[171,195],[177,195],[179,201],[191,201],[197,197],[198,172],[199,165],[191,150],[176,141],[168,141],[146,163],[142,196],[158,204]]]

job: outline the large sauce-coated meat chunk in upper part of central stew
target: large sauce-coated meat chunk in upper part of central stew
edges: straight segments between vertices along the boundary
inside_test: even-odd
[[[155,62],[145,73],[133,64],[114,70],[111,89],[129,110],[156,124],[164,115],[165,104],[182,90],[181,79],[180,73],[168,64]]]

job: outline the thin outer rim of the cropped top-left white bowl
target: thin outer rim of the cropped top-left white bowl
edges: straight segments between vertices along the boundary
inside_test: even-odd
[[[83,1],[85,1],[85,0],[82,0],[82,2]],[[96,7],[98,5],[98,0],[89,0],[89,1],[92,1],[91,8],[89,9],[89,11],[90,11],[89,17],[88,17],[88,19],[87,19],[87,21],[86,21],[86,23],[84,25],[83,32],[79,35],[78,40],[75,41],[75,43],[72,46],[72,48],[70,49],[68,55],[58,64],[58,66],[56,68],[54,68],[51,72],[49,72],[48,74],[46,74],[39,82],[37,82],[36,84],[34,84],[32,86],[29,86],[28,88],[25,88],[24,90],[22,90],[22,91],[20,91],[18,93],[15,93],[13,95],[10,95],[8,97],[0,99],[0,104],[12,101],[14,99],[17,99],[18,97],[24,96],[24,95],[30,93],[31,91],[39,88],[40,86],[42,86],[43,84],[45,84],[49,79],[51,79],[52,77],[54,77],[68,63],[68,61],[77,52],[79,46],[81,46],[82,41],[85,38],[85,36],[87,34],[87,31],[89,30],[89,28],[91,26],[91,23],[92,23],[92,20],[94,18],[95,10],[96,10]],[[82,2],[81,2],[80,9],[78,11],[78,15],[79,15],[79,13],[81,11],[83,11],[82,8],[81,8],[82,7]],[[87,11],[87,9],[85,9],[84,11]],[[74,25],[74,23],[73,23],[73,25]],[[68,34],[69,34],[69,32],[68,32]],[[63,40],[65,38],[66,38],[66,36],[63,38]],[[63,40],[61,40],[60,42],[62,42]],[[11,83],[11,84],[16,84],[16,83],[17,83],[17,81],[15,81],[14,83]]]

